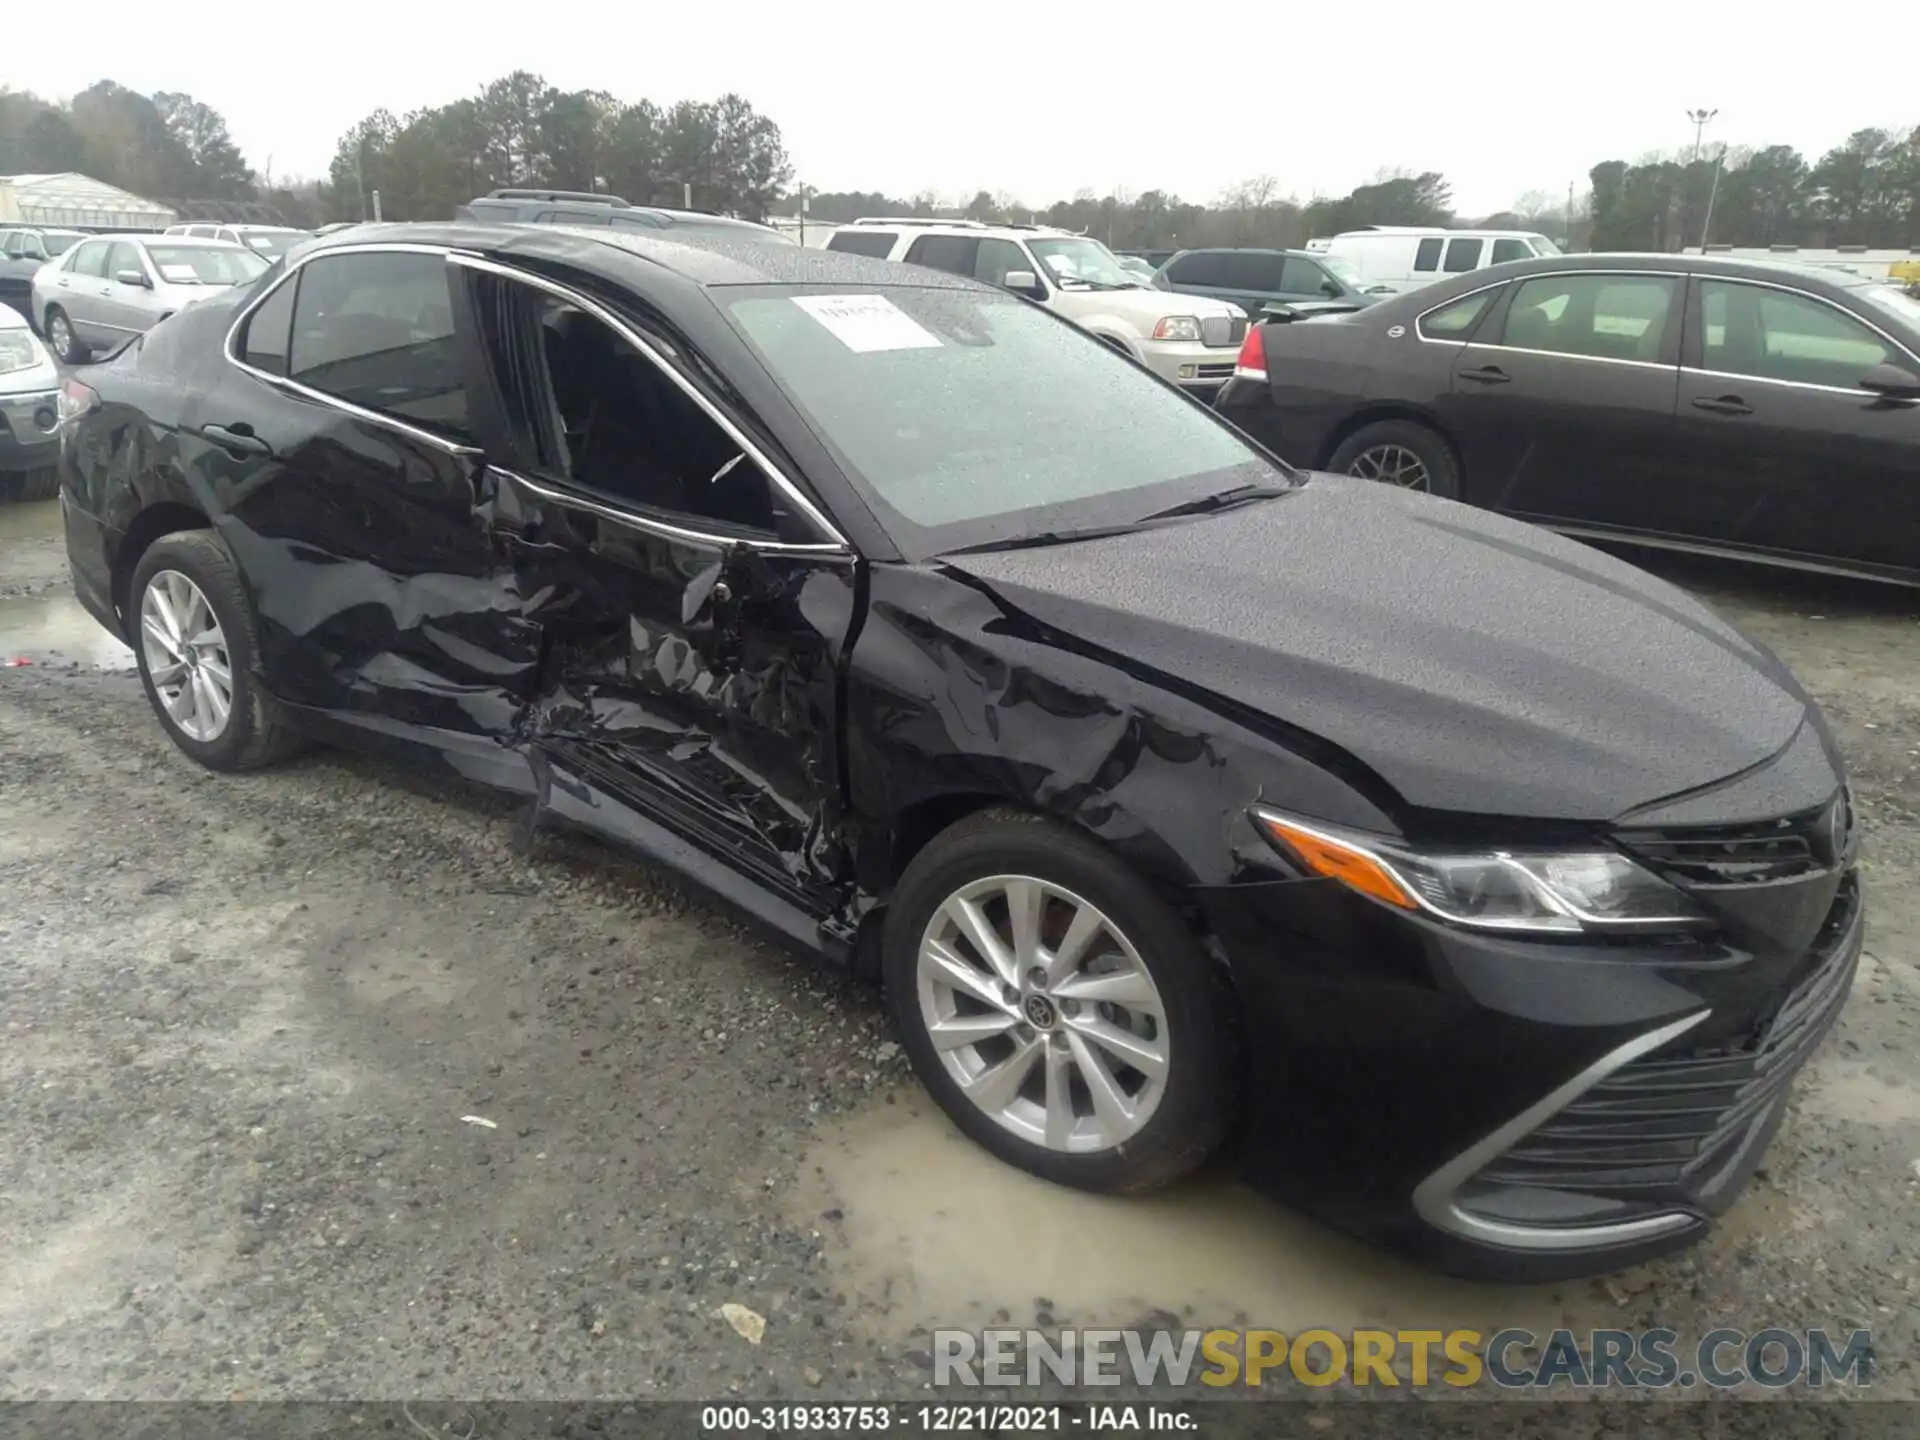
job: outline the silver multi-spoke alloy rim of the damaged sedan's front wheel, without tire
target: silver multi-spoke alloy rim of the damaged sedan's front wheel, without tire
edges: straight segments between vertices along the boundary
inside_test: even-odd
[[[1033,876],[960,887],[920,937],[920,1018],[962,1094],[1048,1150],[1112,1150],[1167,1089],[1167,1008],[1106,914]]]

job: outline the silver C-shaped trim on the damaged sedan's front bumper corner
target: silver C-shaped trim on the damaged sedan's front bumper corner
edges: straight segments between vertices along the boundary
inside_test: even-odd
[[[1611,1225],[1515,1225],[1513,1221],[1496,1221],[1473,1215],[1461,1210],[1453,1196],[1459,1192],[1461,1185],[1473,1179],[1473,1175],[1486,1165],[1486,1162],[1494,1160],[1513,1142],[1540,1129],[1561,1110],[1599,1085],[1599,1081],[1607,1079],[1607,1075],[1638,1060],[1649,1050],[1657,1050],[1676,1035],[1684,1035],[1711,1014],[1713,1010],[1695,1010],[1692,1016],[1682,1016],[1680,1020],[1668,1021],[1659,1029],[1649,1029],[1645,1035],[1636,1035],[1626,1044],[1603,1054],[1567,1083],[1540,1096],[1540,1100],[1517,1114],[1505,1125],[1500,1125],[1484,1139],[1467,1146],[1421,1181],[1413,1190],[1415,1213],[1419,1213],[1419,1217],[1428,1225],[1448,1231],[1450,1235],[1459,1235],[1467,1240],[1534,1252],[1584,1250],[1586,1246],[1596,1244],[1626,1244],[1630,1240],[1649,1240],[1657,1235],[1672,1235],[1674,1231],[1697,1225],[1699,1217],[1686,1210],[1665,1210],[1653,1215],[1615,1221]]]

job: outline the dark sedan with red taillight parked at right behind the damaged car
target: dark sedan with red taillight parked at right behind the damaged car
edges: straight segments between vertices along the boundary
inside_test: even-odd
[[[1920,584],[1920,301],[1830,269],[1498,265],[1252,330],[1219,409],[1569,534]]]

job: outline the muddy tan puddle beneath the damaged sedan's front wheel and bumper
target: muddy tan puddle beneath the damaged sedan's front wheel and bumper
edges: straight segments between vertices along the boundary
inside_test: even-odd
[[[1592,1306],[1584,1286],[1467,1284],[1417,1269],[1223,1175],[1125,1200],[1046,1185],[993,1160],[904,1087],[895,1104],[822,1131],[795,1204],[810,1212],[795,1219],[826,1240],[835,1288],[876,1336],[1033,1325],[1043,1309],[1079,1327],[1167,1311],[1288,1332],[1544,1332]]]

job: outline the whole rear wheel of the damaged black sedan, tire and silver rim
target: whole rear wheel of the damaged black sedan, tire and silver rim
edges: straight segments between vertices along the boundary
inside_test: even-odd
[[[257,770],[301,745],[253,680],[259,645],[240,570],[211,530],[140,557],[127,630],[161,730],[207,770]]]

